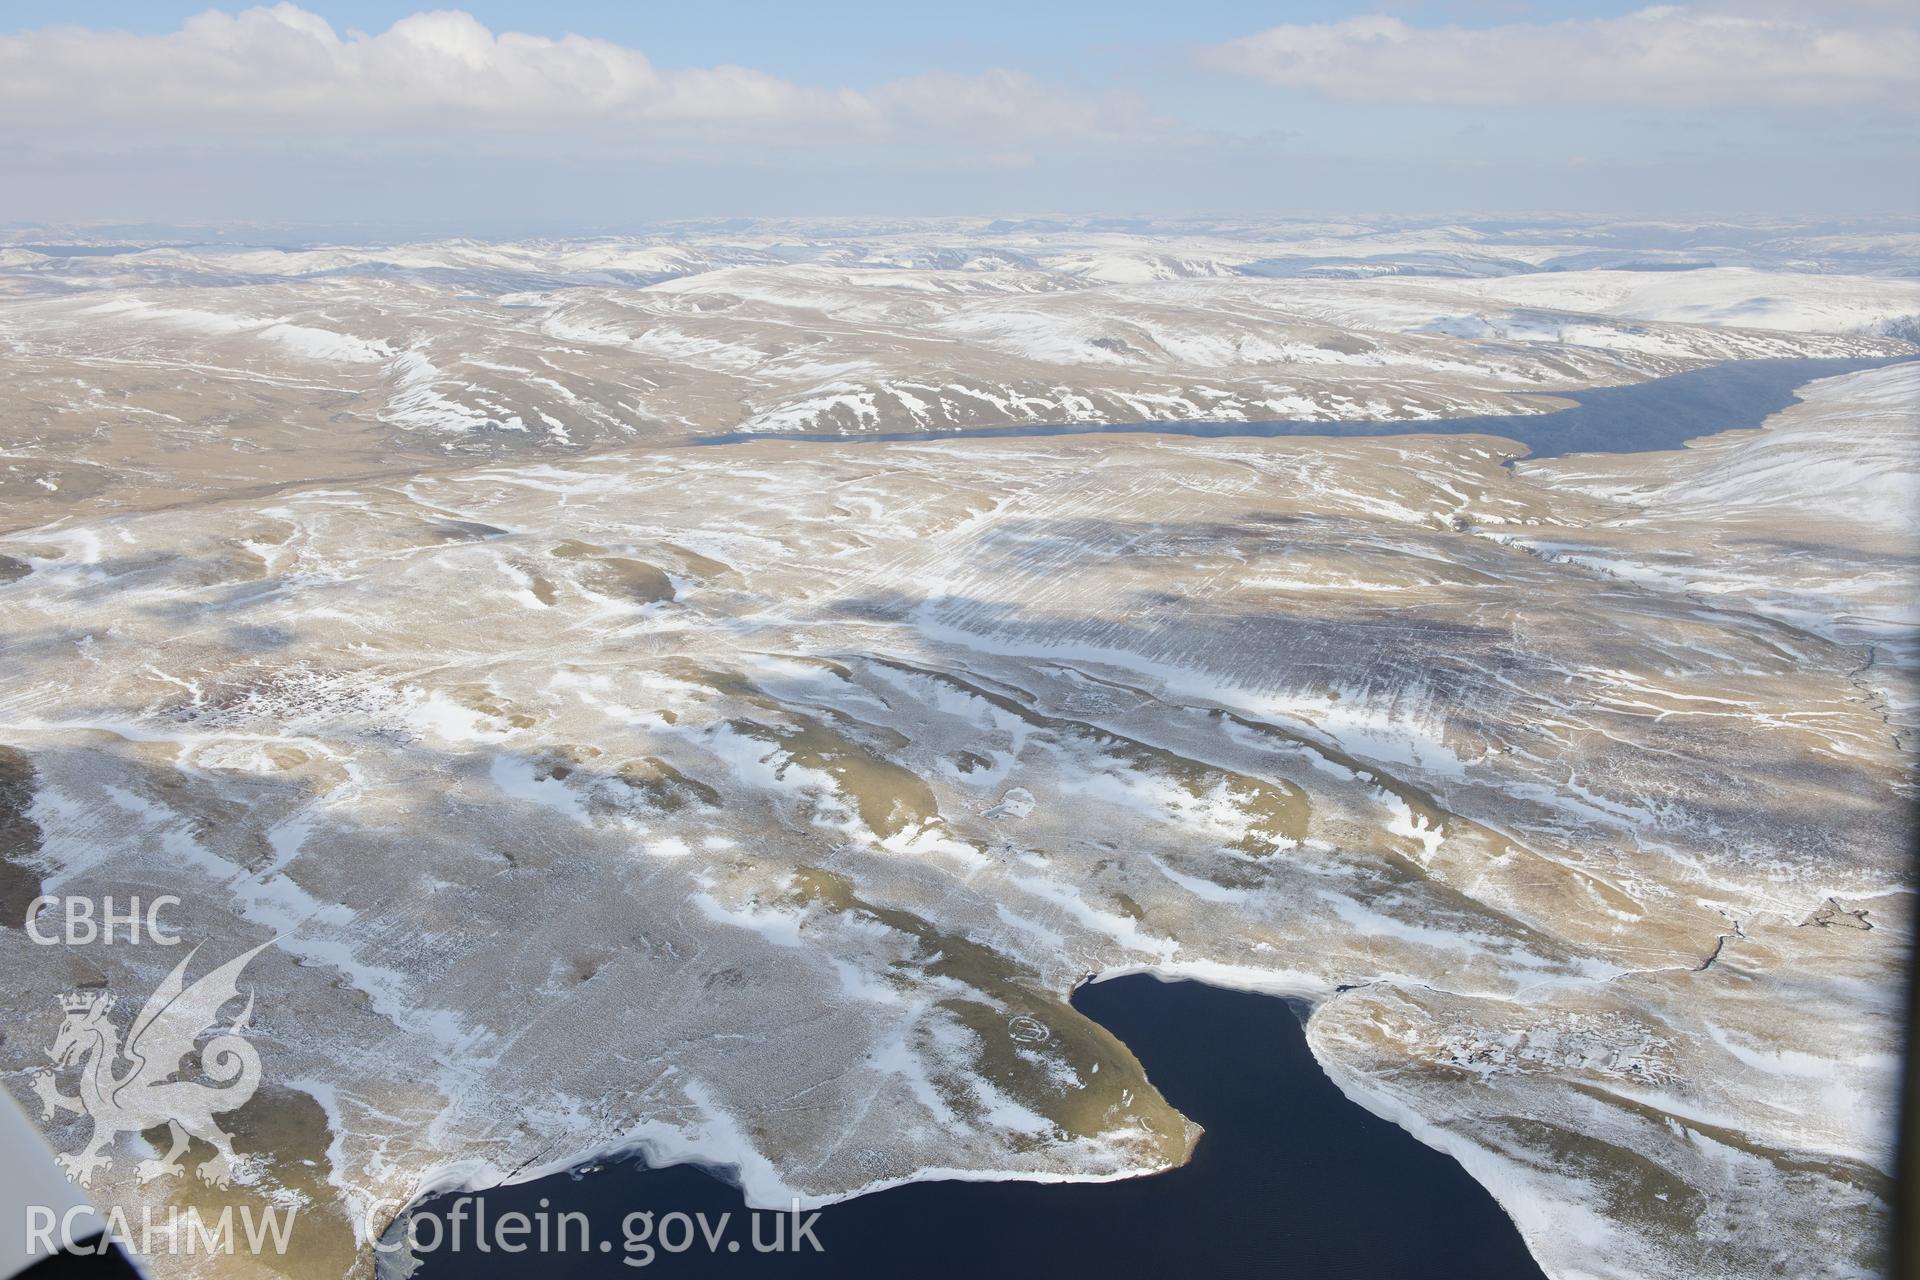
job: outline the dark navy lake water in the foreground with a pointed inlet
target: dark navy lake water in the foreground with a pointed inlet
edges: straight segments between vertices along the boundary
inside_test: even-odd
[[[1165,1098],[1206,1126],[1185,1167],[1104,1184],[916,1182],[824,1209],[812,1224],[818,1253],[756,1253],[730,1184],[685,1165],[622,1163],[478,1197],[488,1221],[532,1215],[541,1201],[549,1215],[584,1211],[586,1247],[442,1249],[417,1274],[1540,1280],[1513,1222],[1457,1163],[1334,1088],[1308,1050],[1304,1007],[1150,977],[1083,986],[1073,1006],[1119,1036]],[[451,1205],[442,1196],[420,1213],[445,1224]],[[732,1221],[714,1249],[695,1232],[693,1247],[668,1253],[653,1236],[651,1257],[636,1253],[647,1257],[639,1270],[622,1244],[622,1219],[636,1211]],[[776,1215],[762,1217],[760,1240],[772,1244]],[[422,1242],[434,1238],[430,1224],[417,1226]]]

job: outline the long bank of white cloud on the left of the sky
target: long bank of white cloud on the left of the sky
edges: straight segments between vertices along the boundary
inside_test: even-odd
[[[1014,71],[854,90],[749,67],[662,69],[609,40],[495,35],[461,12],[336,33],[294,4],[207,12],[169,35],[50,27],[0,36],[0,127],[386,136],[396,130],[822,142],[1110,136],[1131,96]]]

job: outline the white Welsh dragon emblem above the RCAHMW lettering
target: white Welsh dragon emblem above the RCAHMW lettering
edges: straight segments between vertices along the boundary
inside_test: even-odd
[[[253,996],[248,994],[246,1007],[225,1029],[217,1027],[217,1019],[227,1002],[240,996],[236,986],[240,971],[267,946],[271,942],[261,942],[186,986],[186,965],[200,952],[196,946],[148,996],[127,1029],[125,1044],[119,1027],[108,1019],[113,996],[75,992],[60,998],[67,1019],[54,1048],[48,1050],[54,1069],[35,1073],[33,1090],[40,1096],[46,1119],[73,1111],[94,1121],[94,1134],[86,1146],[77,1155],[60,1157],[60,1165],[75,1182],[90,1186],[96,1169],[113,1165],[106,1150],[119,1134],[138,1134],[167,1125],[173,1146],[159,1159],[140,1161],[136,1169],[140,1182],[180,1173],[180,1155],[188,1140],[200,1138],[213,1146],[213,1159],[196,1169],[200,1180],[209,1186],[228,1186],[236,1159],[232,1138],[213,1123],[213,1117],[246,1105],[259,1088],[259,1054],[242,1034],[253,1017]],[[207,1029],[219,1031],[198,1046],[200,1073],[211,1084],[173,1079]],[[69,1098],[56,1086],[56,1073],[73,1065],[81,1069],[81,1092]]]

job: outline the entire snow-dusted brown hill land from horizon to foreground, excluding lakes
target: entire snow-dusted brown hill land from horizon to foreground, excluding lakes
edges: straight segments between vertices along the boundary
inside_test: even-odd
[[[789,436],[1546,413],[1916,355],[1916,261],[1605,225],[0,248],[8,921],[138,889],[209,963],[278,938],[242,1182],[307,1205],[301,1274],[371,1267],[374,1201],[634,1148],[762,1205],[1162,1169],[1196,1130],[1066,1002],[1127,969],[1315,1002],[1334,1082],[1549,1274],[1870,1274],[1920,365],[1540,461]],[[52,992],[177,956],[0,960],[31,1102]],[[215,1197],[125,1157],[94,1192]]]

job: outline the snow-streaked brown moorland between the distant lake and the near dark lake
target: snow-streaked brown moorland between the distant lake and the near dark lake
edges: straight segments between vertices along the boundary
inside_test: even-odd
[[[1713,512],[1766,445],[1910,432],[1897,378],[1632,484],[1475,436],[753,441],[25,530],[23,865],[278,938],[255,1038],[326,1119],[252,1176],[317,1215],[630,1150],[756,1205],[1158,1169],[1190,1128],[1066,1002],[1150,969],[1313,1000],[1553,1276],[1864,1276],[1910,670],[1768,581],[1903,560],[1797,526],[1713,580]],[[69,973],[0,963],[25,1055]]]

